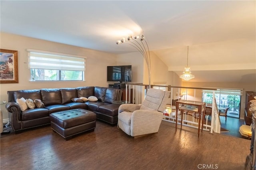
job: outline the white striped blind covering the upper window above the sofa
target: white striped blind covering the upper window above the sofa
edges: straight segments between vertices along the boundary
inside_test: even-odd
[[[86,57],[27,49],[29,69],[85,71]]]

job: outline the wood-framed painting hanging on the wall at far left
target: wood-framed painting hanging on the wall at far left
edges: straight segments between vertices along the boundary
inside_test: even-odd
[[[18,51],[0,49],[0,83],[19,83]]]

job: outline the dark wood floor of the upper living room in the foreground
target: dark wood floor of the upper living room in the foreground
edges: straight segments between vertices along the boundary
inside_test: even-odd
[[[43,127],[2,137],[0,146],[1,170],[242,170],[250,153],[250,140],[206,131],[198,138],[197,129],[175,132],[165,121],[140,138],[97,121],[94,132],[68,141]]]

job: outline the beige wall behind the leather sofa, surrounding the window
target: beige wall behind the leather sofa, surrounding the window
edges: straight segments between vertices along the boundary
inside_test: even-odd
[[[17,36],[13,34],[0,34],[0,47],[2,49],[11,49],[18,51],[18,72],[19,83],[0,84],[0,101],[7,101],[7,91],[21,89],[41,89],[41,88],[61,88],[61,87],[79,87],[79,86],[102,86],[108,87],[107,66],[116,65],[116,55],[104,53],[82,47],[75,47],[61,43],[54,43],[35,38]],[[87,57],[86,59],[86,81],[81,82],[29,82],[30,70],[27,69],[27,51],[26,49],[38,49],[42,51],[52,51],[72,55]],[[4,105],[1,105],[3,119],[8,119],[7,111]]]

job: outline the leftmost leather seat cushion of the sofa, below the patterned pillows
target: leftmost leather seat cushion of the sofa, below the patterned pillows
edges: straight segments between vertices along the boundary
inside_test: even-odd
[[[41,117],[48,117],[49,110],[45,108],[35,108],[35,109],[27,109],[22,112],[21,119],[22,121],[27,121],[31,119],[38,119]]]

